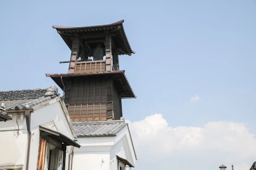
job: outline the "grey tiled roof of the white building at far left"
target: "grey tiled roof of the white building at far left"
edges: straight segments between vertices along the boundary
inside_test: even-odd
[[[5,104],[6,111],[29,109],[59,95],[58,88],[55,86],[42,89],[0,91],[0,103]]]

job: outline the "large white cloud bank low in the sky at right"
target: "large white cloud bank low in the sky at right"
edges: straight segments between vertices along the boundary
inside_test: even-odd
[[[136,170],[249,170],[255,160],[256,139],[245,124],[209,122],[203,128],[168,126],[161,114],[139,122],[127,121],[137,152]]]

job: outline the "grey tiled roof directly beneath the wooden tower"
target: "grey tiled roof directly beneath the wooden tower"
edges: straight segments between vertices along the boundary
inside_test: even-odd
[[[77,137],[113,136],[121,131],[127,123],[119,121],[73,122]]]

